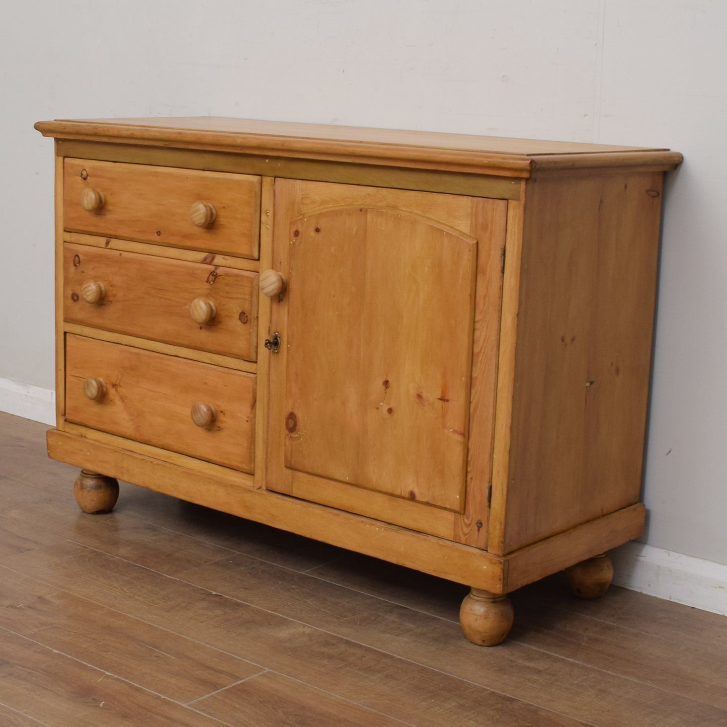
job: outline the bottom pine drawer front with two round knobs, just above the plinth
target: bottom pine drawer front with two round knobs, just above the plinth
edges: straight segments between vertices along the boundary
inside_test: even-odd
[[[252,472],[254,408],[254,374],[66,336],[69,422]]]

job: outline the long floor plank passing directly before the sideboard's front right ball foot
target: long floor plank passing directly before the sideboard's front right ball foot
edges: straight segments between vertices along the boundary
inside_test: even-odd
[[[578,663],[571,654],[561,658],[540,646],[531,648],[526,640],[518,643],[517,636],[506,648],[483,650],[462,640],[455,622],[338,585],[317,583],[305,574],[289,573],[286,588],[281,589],[276,567],[235,555],[180,577],[585,722],[616,727],[638,715],[636,724],[678,726],[687,715],[702,715],[706,723],[727,723],[727,710],[699,701],[699,696],[721,699],[715,695],[715,674],[709,667],[700,667],[696,677],[686,670],[682,675],[686,688],[675,693],[662,690],[662,673],[647,674],[643,680],[636,680],[633,674],[616,675],[611,660],[601,659],[602,667]],[[698,664],[699,659],[690,663]],[[656,669],[652,664],[652,672]],[[659,683],[649,683],[649,677]],[[669,685],[678,686],[671,679]],[[699,691],[699,696],[685,694],[689,688]],[[617,701],[613,694],[619,694]]]

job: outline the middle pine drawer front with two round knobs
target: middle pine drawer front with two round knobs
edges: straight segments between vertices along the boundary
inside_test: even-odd
[[[66,321],[255,361],[257,273],[70,243],[63,268]]]

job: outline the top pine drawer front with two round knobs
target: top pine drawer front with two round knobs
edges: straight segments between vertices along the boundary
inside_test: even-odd
[[[260,177],[66,158],[63,227],[257,258]]]

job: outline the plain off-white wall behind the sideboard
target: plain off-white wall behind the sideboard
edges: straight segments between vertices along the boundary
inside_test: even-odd
[[[53,386],[39,119],[217,115],[668,146],[648,543],[727,563],[727,4],[25,0],[0,22],[0,377]]]

